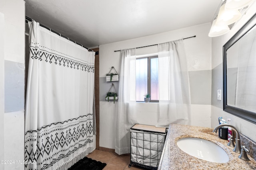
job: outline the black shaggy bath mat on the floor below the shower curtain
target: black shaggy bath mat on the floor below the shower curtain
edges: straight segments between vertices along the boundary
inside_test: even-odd
[[[102,170],[105,166],[106,163],[84,157],[68,168],[68,170]]]

